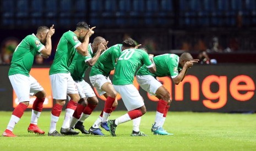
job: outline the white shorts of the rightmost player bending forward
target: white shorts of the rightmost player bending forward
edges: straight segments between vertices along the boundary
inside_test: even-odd
[[[149,92],[150,95],[156,95],[156,90],[162,86],[159,80],[155,79],[151,75],[136,75],[136,78],[140,87]]]

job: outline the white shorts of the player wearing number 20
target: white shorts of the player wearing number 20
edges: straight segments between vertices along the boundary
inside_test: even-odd
[[[115,90],[121,95],[124,105],[128,111],[144,106],[143,98],[133,84],[113,85]]]

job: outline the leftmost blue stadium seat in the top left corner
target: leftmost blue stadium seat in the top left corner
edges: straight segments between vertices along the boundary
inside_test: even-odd
[[[14,1],[13,0],[2,0],[2,21],[3,25],[14,24]]]

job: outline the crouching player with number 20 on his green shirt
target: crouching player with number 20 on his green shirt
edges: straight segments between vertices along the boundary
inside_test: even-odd
[[[117,125],[139,118],[146,113],[143,98],[133,85],[133,79],[136,70],[143,64],[150,72],[156,72],[156,67],[152,62],[153,60],[149,58],[146,51],[141,49],[126,49],[122,51],[119,56],[115,73],[113,75],[113,86],[122,96],[122,100],[128,110],[128,113],[115,120],[107,121],[112,136],[116,136]],[[132,133],[142,133],[141,135],[144,135],[143,132],[140,131],[133,131]]]

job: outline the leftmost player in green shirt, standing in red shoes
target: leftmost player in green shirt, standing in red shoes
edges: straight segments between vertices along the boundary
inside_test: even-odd
[[[50,29],[46,26],[40,26],[37,28],[36,35],[33,33],[26,36],[13,53],[8,75],[20,103],[14,109],[7,129],[3,132],[3,136],[15,137],[12,131],[15,124],[18,123],[24,111],[29,106],[29,95],[35,95],[36,100],[33,103],[31,123],[28,131],[39,134],[45,133],[37,126],[37,119],[41,114],[46,93],[42,86],[29,73],[36,55],[41,54],[45,58],[51,55],[51,37],[54,33],[55,29],[53,25]]]

